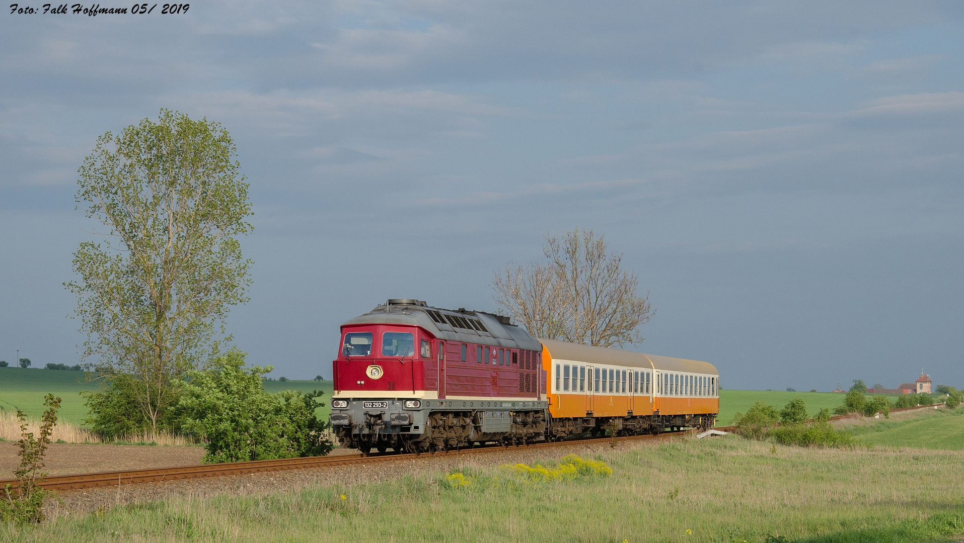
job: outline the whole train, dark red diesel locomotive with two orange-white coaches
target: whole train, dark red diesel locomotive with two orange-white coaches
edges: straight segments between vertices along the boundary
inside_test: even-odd
[[[706,362],[540,341],[501,315],[407,298],[344,323],[333,369],[332,426],[362,453],[711,427],[719,411]]]

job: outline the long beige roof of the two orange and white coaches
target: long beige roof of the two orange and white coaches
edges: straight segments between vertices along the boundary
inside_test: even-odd
[[[628,366],[629,368],[655,368],[660,371],[683,374],[719,375],[715,366],[700,360],[643,354],[631,350],[594,347],[564,341],[547,339],[540,339],[539,341],[549,350],[549,356],[553,359],[572,360],[586,364]]]

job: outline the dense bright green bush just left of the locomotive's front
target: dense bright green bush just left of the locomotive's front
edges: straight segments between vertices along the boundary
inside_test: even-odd
[[[328,453],[327,424],[314,409],[321,403],[299,391],[272,395],[261,385],[271,366],[244,367],[245,354],[231,349],[206,371],[190,372],[179,408],[188,431],[207,440],[204,462],[236,462]]]

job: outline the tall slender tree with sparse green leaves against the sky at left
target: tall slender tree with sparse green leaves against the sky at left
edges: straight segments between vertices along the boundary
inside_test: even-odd
[[[252,228],[251,202],[234,156],[221,124],[161,110],[99,137],[78,170],[76,200],[105,230],[73,253],[79,278],[65,283],[83,356],[142,383],[132,390],[151,431],[177,400],[173,383],[217,352],[229,307],[247,301],[251,261],[236,237]]]

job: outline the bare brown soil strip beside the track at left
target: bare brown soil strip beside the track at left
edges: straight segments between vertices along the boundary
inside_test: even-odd
[[[18,451],[16,443],[0,442],[0,478],[13,478],[13,470],[20,464]],[[68,475],[194,466],[201,463],[203,455],[203,447],[51,443],[43,471],[47,475]]]

